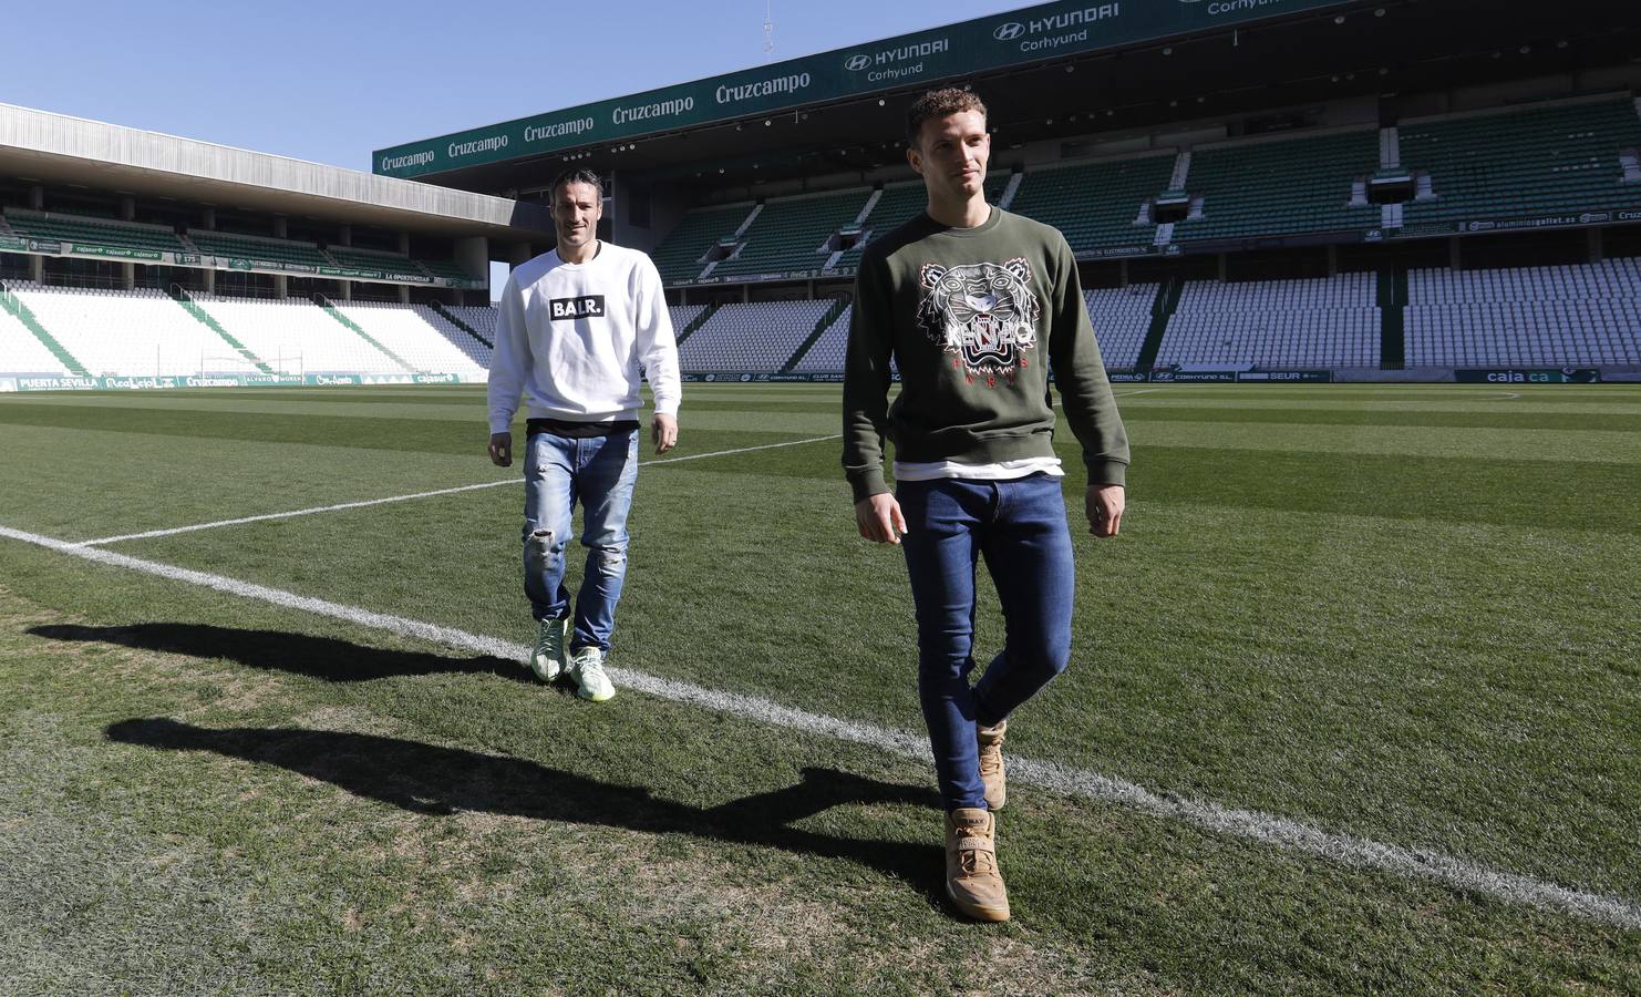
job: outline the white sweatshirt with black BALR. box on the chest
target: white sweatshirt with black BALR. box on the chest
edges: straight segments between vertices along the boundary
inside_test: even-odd
[[[497,302],[491,432],[507,432],[523,394],[532,419],[617,422],[643,407],[678,412],[678,345],[661,274],[637,250],[599,243],[587,263],[558,250],[514,269]]]

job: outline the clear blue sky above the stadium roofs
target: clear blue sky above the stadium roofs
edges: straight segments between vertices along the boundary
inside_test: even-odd
[[[766,0],[8,3],[0,100],[369,169],[389,145],[1027,2],[773,0],[773,56]]]

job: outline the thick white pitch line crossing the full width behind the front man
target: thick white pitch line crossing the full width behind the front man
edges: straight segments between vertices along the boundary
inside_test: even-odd
[[[530,649],[523,644],[514,644],[499,637],[484,637],[420,619],[407,619],[404,616],[373,613],[356,606],[343,606],[340,603],[315,600],[312,596],[267,588],[251,581],[240,581],[236,578],[225,578],[207,572],[195,572],[176,565],[128,557],[112,550],[84,547],[67,540],[28,534],[3,526],[0,526],[0,537],[10,537],[13,540],[21,540],[23,544],[46,547],[48,550],[57,550],[61,554],[69,554],[95,563],[128,568],[144,575],[184,581],[187,585],[199,585],[202,588],[212,588],[228,595],[271,603],[274,606],[300,609],[315,616],[328,616],[331,619],[341,619],[363,627],[387,631],[392,634],[410,634],[422,637],[423,641],[432,641],[459,650],[474,650],[520,664],[528,660],[530,655]],[[834,716],[783,706],[773,700],[765,700],[763,696],[719,691],[688,682],[630,672],[627,668],[610,668],[610,677],[625,688],[648,693],[661,700],[693,703],[757,723],[865,744],[868,747],[876,747],[880,751],[909,759],[929,760],[929,742],[922,734],[891,731],[875,724],[839,719]],[[1229,834],[1278,849],[1316,856],[1352,869],[1380,869],[1408,879],[1434,880],[1459,890],[1485,894],[1510,903],[1554,910],[1592,921],[1616,925],[1620,928],[1641,930],[1641,905],[1623,897],[1607,897],[1574,890],[1528,875],[1488,869],[1487,866],[1467,862],[1464,859],[1456,859],[1428,849],[1406,849],[1395,844],[1382,844],[1365,838],[1355,838],[1352,834],[1324,831],[1303,821],[1257,810],[1237,810],[1221,806],[1219,803],[1208,800],[1154,793],[1142,785],[1114,775],[1101,775],[1098,772],[1072,769],[1055,762],[1037,762],[1032,759],[1009,756],[1009,767],[1017,782],[1035,783],[1070,797],[1098,800],[1103,803],[1119,803],[1150,816],[1178,820],[1211,833]]]

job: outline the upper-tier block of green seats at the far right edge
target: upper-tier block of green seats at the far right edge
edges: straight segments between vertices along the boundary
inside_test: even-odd
[[[1398,128],[1401,166],[1431,195],[1403,205],[1408,227],[1641,207],[1620,154],[1641,146],[1628,97],[1424,120]]]

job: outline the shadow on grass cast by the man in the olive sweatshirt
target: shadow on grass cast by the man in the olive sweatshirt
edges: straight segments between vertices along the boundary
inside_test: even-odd
[[[932,813],[940,806],[932,790],[834,769],[804,769],[796,785],[699,808],[658,800],[642,787],[597,782],[535,762],[373,734],[300,728],[212,729],[151,718],[112,724],[108,739],[159,749],[213,751],[279,765],[414,813],[468,810],[689,834],[845,859],[912,884],[930,903],[940,905],[944,895],[944,856],[935,844],[837,838],[791,826],[834,806],[858,803],[924,806],[930,810],[932,825]]]

